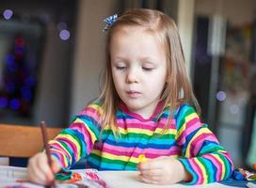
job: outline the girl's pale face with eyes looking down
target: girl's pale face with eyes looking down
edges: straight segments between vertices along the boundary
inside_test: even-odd
[[[120,28],[110,42],[114,85],[131,112],[150,118],[167,79],[164,44],[141,27]]]

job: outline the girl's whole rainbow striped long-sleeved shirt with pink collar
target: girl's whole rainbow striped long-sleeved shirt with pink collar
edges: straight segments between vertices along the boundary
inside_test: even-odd
[[[120,137],[100,124],[102,107],[92,102],[73,120],[69,128],[50,141],[52,154],[63,167],[87,158],[87,166],[98,170],[136,170],[138,156],[153,159],[175,157],[192,175],[189,184],[225,180],[232,174],[232,160],[206,124],[200,122],[188,104],[175,110],[168,123],[169,108],[159,118],[163,105],[157,105],[149,119],[130,112],[124,103],[116,114]],[[163,133],[168,123],[168,129]]]

